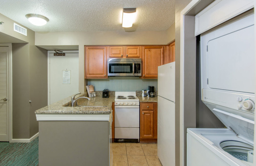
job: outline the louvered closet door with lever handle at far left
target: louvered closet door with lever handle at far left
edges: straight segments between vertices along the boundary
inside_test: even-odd
[[[0,47],[0,141],[9,141],[8,47]]]

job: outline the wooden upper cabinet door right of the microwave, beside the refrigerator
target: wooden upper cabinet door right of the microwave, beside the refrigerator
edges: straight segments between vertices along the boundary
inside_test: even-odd
[[[157,68],[164,64],[164,46],[143,46],[142,77],[157,79]]]

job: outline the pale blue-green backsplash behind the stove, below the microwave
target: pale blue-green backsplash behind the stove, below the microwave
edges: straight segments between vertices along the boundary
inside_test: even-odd
[[[87,79],[95,91],[140,91],[154,86],[157,91],[157,79],[140,79],[139,77],[109,77],[108,79]]]

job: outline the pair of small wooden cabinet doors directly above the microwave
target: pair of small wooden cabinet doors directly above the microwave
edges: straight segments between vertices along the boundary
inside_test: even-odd
[[[140,46],[109,46],[109,56],[117,58],[140,58]]]

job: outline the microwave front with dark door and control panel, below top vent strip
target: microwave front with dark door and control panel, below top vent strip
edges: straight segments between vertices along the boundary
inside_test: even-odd
[[[141,62],[108,62],[108,76],[141,76]]]

